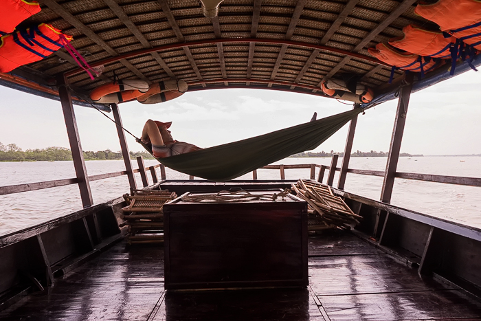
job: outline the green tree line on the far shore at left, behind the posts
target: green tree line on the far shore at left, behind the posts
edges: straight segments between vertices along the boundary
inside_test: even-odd
[[[84,151],[84,158],[86,160],[99,159],[122,159],[122,153],[106,149],[105,151]],[[154,159],[152,155],[143,152],[130,152],[131,159],[142,156],[144,159]],[[0,162],[35,162],[35,161],[67,161],[72,160],[72,155],[69,148],[64,147],[47,147],[43,149],[27,149],[22,151],[22,148],[16,144],[3,145],[0,142]]]

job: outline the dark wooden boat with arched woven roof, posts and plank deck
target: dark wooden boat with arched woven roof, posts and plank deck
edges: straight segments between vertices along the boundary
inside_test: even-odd
[[[471,56],[456,60],[456,70],[446,63],[418,78],[416,73],[370,56],[368,47],[402,36],[403,27],[432,25],[414,14],[416,0],[42,0],[40,5],[41,12],[25,23],[63,29],[74,35],[73,47],[91,54],[84,54],[86,63],[79,67],[76,54],[70,56],[60,49],[36,63],[0,74],[0,85],[61,104],[76,177],[0,186],[0,195],[75,184],[84,208],[0,236],[1,320],[481,320],[481,230],[390,204],[396,179],[481,186],[479,177],[397,170],[410,94],[463,72],[474,72],[472,67],[481,65],[479,55]],[[85,72],[89,68],[96,72]],[[121,104],[89,100],[93,89],[118,80],[154,84],[170,79],[185,81],[191,92],[248,88],[329,98],[322,93],[322,81],[344,74],[356,76],[374,93],[370,102],[353,104],[353,108],[368,114],[370,107],[388,100],[399,102],[385,171],[350,168],[355,117],[348,125],[342,163],[339,155],[333,155],[330,166],[267,165],[264,168],[280,172],[280,179],[269,181],[257,179],[257,170],[249,180],[169,179],[162,164],[146,167],[142,157],[137,159],[138,166],[131,163]],[[58,100],[60,103],[55,102]],[[87,173],[74,104],[113,114],[125,170]],[[308,233],[307,203],[293,193],[291,203],[300,211],[295,212],[295,222],[300,224],[295,231],[302,243],[289,252],[288,248],[294,247],[283,245],[282,237],[273,230],[268,234],[278,237],[275,245],[286,250],[282,255],[290,253],[296,258],[298,274],[291,280],[288,274],[272,280],[268,269],[249,282],[235,278],[214,282],[221,277],[214,273],[209,282],[176,283],[172,272],[177,270],[172,267],[181,270],[188,265],[175,263],[179,252],[172,252],[173,239],[165,234],[166,239],[158,238],[150,245],[128,245],[122,209],[130,205],[132,196],[118,195],[94,204],[90,188],[92,181],[126,175],[133,194],[139,190],[175,192],[178,197],[164,205],[168,228],[173,228],[179,197],[215,197],[222,190],[279,194],[298,182],[285,179],[285,170],[291,168],[309,170],[309,184],[327,186],[332,197],[342,199],[361,217],[357,225]],[[142,186],[137,186],[136,175]],[[380,199],[346,192],[347,175],[383,177]],[[283,204],[280,200],[265,202]],[[233,204],[231,209],[242,207]],[[282,206],[277,210],[282,212]],[[273,212],[267,209],[263,215],[276,219]],[[241,215],[237,218],[243,219]],[[262,214],[256,219],[262,219]],[[211,233],[190,242],[199,246],[211,239]],[[262,233],[264,230],[256,235]],[[272,249],[269,244],[267,248]],[[216,243],[214,250],[222,245]],[[254,249],[256,255],[263,246]],[[249,266],[256,267],[273,259],[269,253],[250,258],[244,250],[223,253],[246,258],[253,264]],[[285,266],[292,263],[282,262]],[[237,277],[249,273],[240,269]]]

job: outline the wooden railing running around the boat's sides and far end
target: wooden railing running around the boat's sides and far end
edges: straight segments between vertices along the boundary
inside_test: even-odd
[[[334,162],[333,157],[333,162]],[[133,173],[139,173],[140,178],[142,179],[142,185],[147,187],[148,183],[148,175],[147,173],[150,172],[150,176],[152,177],[153,184],[156,184],[159,181],[159,177],[157,176],[157,168],[160,168],[160,178],[161,180],[166,180],[166,168],[162,164],[156,164],[153,166],[144,166],[144,161],[142,157],[137,157],[137,163],[139,164],[139,168],[133,169]],[[323,182],[326,180],[326,184],[329,186],[333,186],[334,184],[334,176],[335,172],[342,172],[345,170],[346,173],[352,173],[356,175],[368,175],[368,176],[379,176],[384,177],[385,173],[381,170],[360,170],[355,168],[339,168],[337,166],[320,165],[320,164],[276,164],[276,165],[267,165],[260,169],[269,169],[269,170],[279,170],[280,171],[280,179],[285,179],[285,170],[288,169],[309,169],[310,170],[310,179],[316,179],[316,172],[317,172],[317,181]],[[317,168],[319,170],[317,171]],[[334,168],[334,170],[331,170]],[[327,173],[327,178],[324,179],[324,176]],[[346,174],[344,173],[344,175]],[[105,173],[99,175],[91,175],[88,177],[89,181],[98,181],[100,179],[108,179],[111,177],[118,177],[122,175],[127,175],[126,170],[122,170],[119,172],[114,173]],[[460,176],[448,176],[448,175],[431,175],[431,174],[420,174],[420,173],[402,173],[396,172],[396,178],[400,179],[414,179],[416,181],[431,181],[436,183],[444,183],[444,184],[454,184],[454,185],[464,185],[464,186],[478,186],[481,187],[481,178],[478,177],[460,177]],[[189,176],[189,179],[194,179],[193,176]],[[257,170],[252,172],[252,179],[258,179]],[[68,178],[68,179],[57,179],[54,181],[41,181],[36,183],[28,183],[28,184],[19,184],[19,185],[10,185],[10,186],[0,186],[0,195],[8,195],[14,194],[18,192],[28,192],[32,190],[42,190],[45,188],[54,188],[58,186],[67,186],[71,184],[78,184],[79,179],[77,178]]]

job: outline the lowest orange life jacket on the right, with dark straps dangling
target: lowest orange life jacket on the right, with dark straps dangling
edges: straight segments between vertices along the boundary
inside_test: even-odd
[[[400,52],[391,45],[378,43],[374,48],[368,48],[368,52],[383,61],[392,65],[389,83],[392,82],[394,70],[403,69],[406,71],[421,72],[421,78],[425,73],[432,71],[440,65],[439,61],[435,61],[430,57],[419,56],[418,54],[410,54],[409,52]]]

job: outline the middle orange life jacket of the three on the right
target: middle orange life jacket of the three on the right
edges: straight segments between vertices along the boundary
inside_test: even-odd
[[[402,38],[392,38],[389,44],[420,56],[451,58],[449,48],[456,43],[456,38],[446,38],[442,32],[425,30],[415,25],[406,25],[403,33]]]

